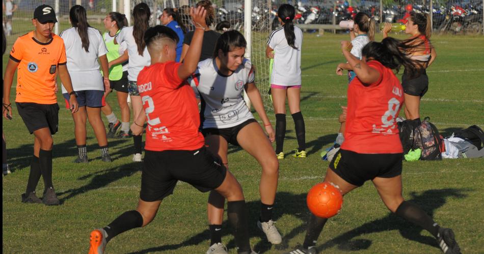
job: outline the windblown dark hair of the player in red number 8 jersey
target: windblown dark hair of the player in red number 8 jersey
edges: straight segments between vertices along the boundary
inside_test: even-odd
[[[418,73],[418,67],[406,53],[409,47],[397,39],[387,37],[382,42],[370,41],[363,47],[361,54],[367,60],[377,60],[382,65],[397,72],[403,65],[410,76],[413,77]]]

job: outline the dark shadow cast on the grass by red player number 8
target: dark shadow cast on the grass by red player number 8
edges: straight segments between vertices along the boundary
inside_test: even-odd
[[[465,192],[472,191],[473,189],[432,189],[426,190],[421,194],[412,192],[412,199],[410,202],[420,206],[428,215],[433,216],[434,212],[442,207],[446,203],[448,197],[463,199],[467,196]],[[351,201],[349,201],[351,202]],[[439,218],[435,218],[437,221]],[[442,224],[445,227],[445,221]],[[412,224],[393,213],[389,213],[387,216],[367,222],[358,228],[348,231],[344,234],[336,236],[332,240],[317,246],[319,251],[337,246],[343,251],[355,251],[361,249],[368,249],[371,246],[372,241],[369,239],[355,239],[371,233],[378,233],[384,231],[398,230],[400,235],[408,240],[419,242],[422,244],[435,246],[438,248],[436,239],[431,236],[423,236],[421,232],[422,228]]]

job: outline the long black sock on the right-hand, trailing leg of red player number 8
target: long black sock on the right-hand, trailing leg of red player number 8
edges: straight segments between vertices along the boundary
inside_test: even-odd
[[[402,202],[396,209],[395,214],[422,227],[435,237],[439,233],[440,227],[432,217],[428,216],[420,207],[411,202]]]

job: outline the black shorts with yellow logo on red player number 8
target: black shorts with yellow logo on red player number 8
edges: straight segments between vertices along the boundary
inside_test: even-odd
[[[362,154],[340,149],[329,167],[344,181],[361,186],[375,177],[392,178],[401,175],[401,153]]]

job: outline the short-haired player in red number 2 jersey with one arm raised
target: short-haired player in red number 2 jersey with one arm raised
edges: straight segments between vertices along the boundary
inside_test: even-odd
[[[228,219],[235,229],[238,252],[252,251],[242,188],[205,148],[198,129],[195,94],[185,81],[197,68],[206,28],[203,7],[192,8],[191,16],[196,29],[183,64],[175,62],[178,37],[169,27],[157,25],[144,35],[151,65],[140,72],[137,84],[145,114],[139,114],[131,125],[133,134],[139,135],[148,122],[138,208],[121,214],[107,227],[92,231],[89,253],[102,253],[116,235],[150,223],[179,180],[200,191],[214,189],[223,195],[228,200]]]

